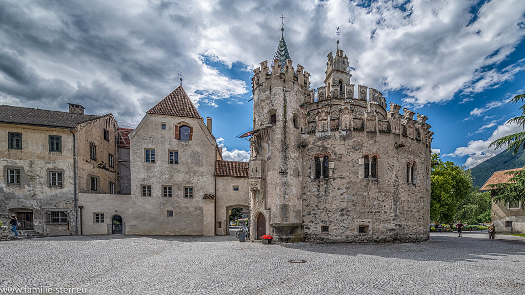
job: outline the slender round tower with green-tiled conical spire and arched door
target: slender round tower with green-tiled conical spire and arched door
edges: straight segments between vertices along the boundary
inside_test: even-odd
[[[300,106],[310,100],[310,75],[300,65],[293,69],[283,36],[272,65],[261,62],[254,73],[250,238],[302,241]]]

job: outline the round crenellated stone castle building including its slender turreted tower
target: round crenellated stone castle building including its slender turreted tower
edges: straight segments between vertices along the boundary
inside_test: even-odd
[[[328,55],[309,89],[281,36],[254,70],[249,162],[252,239],[412,242],[429,237],[430,142],[424,115],[351,83],[348,58]]]

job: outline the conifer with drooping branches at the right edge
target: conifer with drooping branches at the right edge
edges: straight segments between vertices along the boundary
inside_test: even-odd
[[[518,103],[525,100],[525,93],[513,97],[509,102]],[[525,130],[525,104],[520,107],[521,115],[507,121],[506,124],[516,123]],[[489,148],[500,149],[507,146],[507,152],[518,153],[525,149],[525,131],[503,136],[502,138],[490,143]],[[495,202],[521,202],[521,208],[525,209],[525,167],[520,171],[509,171],[505,174],[511,175],[508,183],[491,185],[497,189],[494,197]]]

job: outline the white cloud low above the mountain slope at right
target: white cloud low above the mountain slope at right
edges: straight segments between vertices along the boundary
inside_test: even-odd
[[[522,131],[523,128],[519,125],[502,124],[499,125],[494,132],[492,132],[492,135],[487,140],[471,140],[468,142],[467,146],[460,146],[454,151],[454,153],[446,154],[446,156],[459,157],[468,155],[465,166],[467,166],[467,168],[472,168],[501,152],[501,150],[495,150],[493,148],[489,149],[488,146],[491,142],[501,138],[502,136]]]

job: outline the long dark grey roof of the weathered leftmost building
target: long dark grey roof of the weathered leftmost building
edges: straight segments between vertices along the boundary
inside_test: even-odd
[[[0,104],[0,123],[72,128],[107,115],[83,115],[60,111],[6,106]]]

